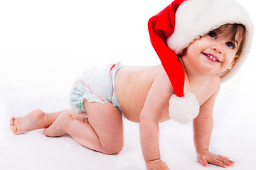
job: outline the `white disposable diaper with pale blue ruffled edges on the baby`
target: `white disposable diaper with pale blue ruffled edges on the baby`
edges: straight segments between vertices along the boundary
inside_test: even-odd
[[[121,67],[123,67],[122,64],[117,62],[117,64],[87,69],[71,88],[69,103],[73,111],[82,118],[87,118],[83,102],[86,99],[89,102],[112,103],[124,115],[119,106],[114,88],[115,77]]]

